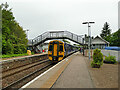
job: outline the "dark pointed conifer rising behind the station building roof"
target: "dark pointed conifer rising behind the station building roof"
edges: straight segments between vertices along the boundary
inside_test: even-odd
[[[103,29],[102,29],[102,33],[100,34],[100,36],[101,36],[103,39],[106,40],[106,37],[107,37],[108,35],[110,35],[110,34],[111,34],[111,29],[110,29],[110,27],[109,27],[109,24],[108,24],[107,22],[105,22],[104,27],[103,27]]]

